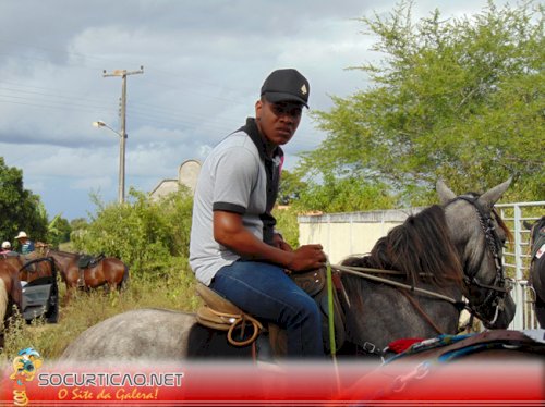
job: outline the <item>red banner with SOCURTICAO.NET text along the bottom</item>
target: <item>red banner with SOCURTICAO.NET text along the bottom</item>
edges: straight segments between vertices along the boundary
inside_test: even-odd
[[[5,367],[0,400],[31,406],[544,406],[544,369],[543,359],[387,366],[45,361],[31,372],[32,379],[22,369]]]

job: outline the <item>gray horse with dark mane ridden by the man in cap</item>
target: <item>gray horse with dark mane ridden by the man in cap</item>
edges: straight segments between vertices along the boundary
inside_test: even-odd
[[[481,196],[460,197],[438,182],[441,206],[409,217],[377,242],[370,255],[377,262],[362,263],[395,270],[390,279],[376,281],[358,268],[348,269],[347,264],[358,266],[359,259],[339,267],[346,341],[338,344],[338,355],[378,353],[404,337],[456,334],[464,307],[489,328],[509,324],[514,303],[501,264],[506,236],[493,207],[510,182]],[[251,345],[229,344],[225,332],[196,323],[192,313],[136,309],[87,329],[60,359],[250,358],[252,350]]]

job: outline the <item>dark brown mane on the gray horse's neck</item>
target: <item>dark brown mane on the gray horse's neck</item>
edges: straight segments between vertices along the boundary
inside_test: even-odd
[[[371,254],[349,257],[342,264],[400,271],[412,284],[461,284],[463,278],[445,211],[438,205],[410,215],[402,224],[380,237]]]

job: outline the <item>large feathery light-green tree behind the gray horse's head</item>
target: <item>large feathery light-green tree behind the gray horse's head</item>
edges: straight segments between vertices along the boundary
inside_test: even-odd
[[[514,174],[509,198],[544,199],[543,4],[417,23],[411,8],[361,18],[384,58],[355,67],[367,89],[315,114],[328,136],[298,172],[384,182],[398,206],[435,201],[438,177],[483,190]]]

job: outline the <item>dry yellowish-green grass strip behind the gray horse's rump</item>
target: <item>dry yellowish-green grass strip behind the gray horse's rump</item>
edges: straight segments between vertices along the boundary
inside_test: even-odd
[[[49,324],[43,319],[26,323],[21,316],[12,319],[0,349],[0,363],[13,360],[19,350],[34,347],[45,359],[58,358],[63,349],[87,328],[114,314],[135,308],[167,308],[193,311],[199,304],[191,271],[172,272],[166,279],[131,278],[121,294],[105,294],[101,288],[77,293],[66,299],[64,283],[59,283],[60,318]]]

